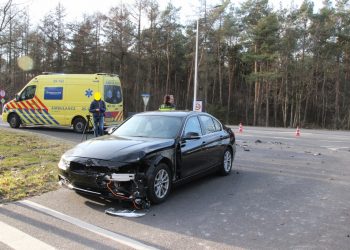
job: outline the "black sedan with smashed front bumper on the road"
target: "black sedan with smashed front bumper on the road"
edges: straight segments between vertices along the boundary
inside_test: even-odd
[[[78,192],[141,208],[205,172],[228,175],[235,152],[232,130],[207,113],[145,112],[63,154],[59,179]]]

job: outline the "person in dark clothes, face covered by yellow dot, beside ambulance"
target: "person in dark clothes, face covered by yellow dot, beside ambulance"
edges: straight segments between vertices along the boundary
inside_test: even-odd
[[[106,112],[106,103],[101,100],[101,93],[94,94],[94,100],[90,104],[89,112],[92,113],[94,119],[94,133],[95,136],[103,135],[104,114]]]

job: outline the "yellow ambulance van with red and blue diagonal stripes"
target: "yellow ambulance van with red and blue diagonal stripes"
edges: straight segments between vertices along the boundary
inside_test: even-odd
[[[90,120],[94,93],[106,103],[105,126],[123,120],[123,95],[117,75],[43,73],[34,77],[5,104],[2,120],[11,128],[21,125],[70,126],[83,133]],[[87,126],[88,125],[88,126]]]

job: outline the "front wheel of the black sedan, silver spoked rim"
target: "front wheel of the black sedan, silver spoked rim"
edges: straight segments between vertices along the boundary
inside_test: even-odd
[[[148,198],[154,204],[166,200],[171,189],[171,174],[167,164],[160,163],[148,178]]]

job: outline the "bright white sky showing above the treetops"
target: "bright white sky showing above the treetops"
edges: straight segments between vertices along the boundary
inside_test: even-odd
[[[6,2],[7,0],[0,0]],[[203,1],[203,0],[202,0]],[[234,0],[239,4],[244,0]],[[284,7],[290,5],[300,6],[303,0],[269,0],[273,7],[278,8],[280,2]],[[107,14],[111,7],[120,6],[123,4],[131,4],[133,0],[14,0],[15,4],[20,9],[26,8],[29,10],[31,23],[39,23],[43,16],[49,11],[54,10],[60,2],[66,9],[67,21],[81,21],[83,14],[93,14],[94,12],[101,12]],[[195,19],[195,13],[200,6],[201,0],[172,0],[171,3],[176,7],[181,7],[181,16],[186,19]],[[219,5],[222,0],[207,0],[207,6]],[[165,9],[169,0],[159,0],[160,9]],[[322,0],[314,0],[315,7],[322,6]],[[191,18],[192,16],[192,18]]]

